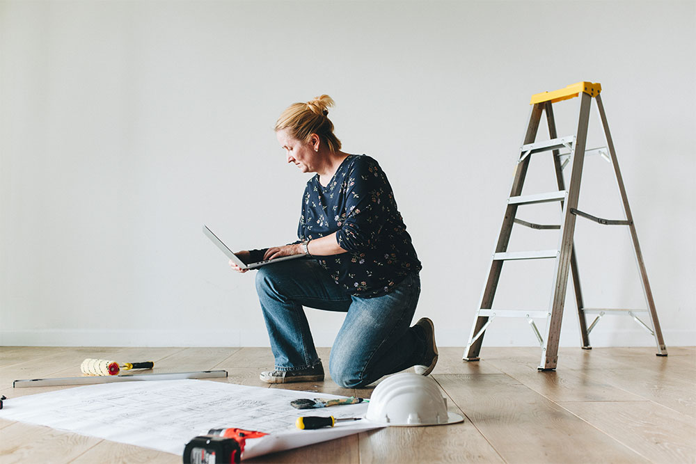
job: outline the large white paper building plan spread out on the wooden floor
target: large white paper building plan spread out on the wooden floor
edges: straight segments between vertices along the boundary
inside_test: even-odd
[[[181,455],[209,429],[238,427],[271,435],[247,440],[243,458],[310,445],[381,427],[365,419],[333,428],[299,430],[300,415],[361,417],[366,403],[299,410],[299,398],[330,394],[247,387],[203,380],[106,383],[4,401],[3,419],[29,422]]]

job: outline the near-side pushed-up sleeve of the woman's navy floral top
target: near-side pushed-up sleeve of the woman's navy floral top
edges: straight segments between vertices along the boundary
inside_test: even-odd
[[[374,246],[386,223],[391,187],[376,161],[361,159],[347,177],[345,211],[338,217],[338,245],[353,253]]]

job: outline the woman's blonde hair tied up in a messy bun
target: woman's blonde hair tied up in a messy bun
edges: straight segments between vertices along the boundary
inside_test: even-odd
[[[333,134],[333,122],[328,117],[330,106],[333,106],[333,99],[329,95],[294,103],[276,121],[276,132],[287,129],[290,136],[305,143],[310,142],[312,134],[317,134],[331,152],[338,152],[341,141]]]

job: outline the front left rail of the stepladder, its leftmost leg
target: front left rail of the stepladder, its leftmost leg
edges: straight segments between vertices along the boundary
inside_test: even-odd
[[[542,104],[537,103],[532,106],[523,145],[532,143],[535,138],[537,138],[537,130],[539,129],[539,122],[541,121],[541,111],[543,111]],[[518,196],[522,192],[524,179],[527,175],[527,169],[529,167],[529,161],[530,157],[526,157],[517,164],[517,170],[515,171],[515,177],[512,182],[510,196]],[[512,226],[514,225],[516,214],[517,205],[508,204],[507,209],[505,209],[503,225],[500,227],[498,243],[496,243],[496,253],[505,253],[505,251],[507,251],[507,245],[510,241],[510,234],[512,234]],[[491,270],[489,271],[488,280],[481,294],[481,301],[479,305],[480,309],[491,309],[491,307],[493,307],[493,298],[496,296],[496,288],[498,287],[500,272],[502,270],[503,262],[491,259]],[[474,339],[474,337],[480,332],[480,330],[482,330],[482,328],[484,328],[488,322],[488,319],[488,317],[479,316],[477,310],[476,321],[471,328],[471,335],[469,336],[468,344],[466,345],[466,349],[464,351],[464,360],[476,361],[479,359],[478,355],[481,351],[484,333],[480,334],[477,339]]]

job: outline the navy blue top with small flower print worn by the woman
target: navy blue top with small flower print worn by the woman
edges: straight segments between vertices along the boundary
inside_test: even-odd
[[[311,240],[337,231],[348,253],[314,258],[351,295],[386,294],[422,269],[389,181],[367,155],[349,155],[326,187],[318,174],[307,182],[297,236]]]

